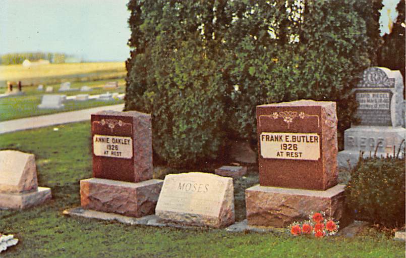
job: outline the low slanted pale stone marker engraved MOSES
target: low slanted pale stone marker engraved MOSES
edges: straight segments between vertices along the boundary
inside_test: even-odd
[[[222,228],[233,224],[233,179],[201,172],[167,175],[155,214],[187,225]]]

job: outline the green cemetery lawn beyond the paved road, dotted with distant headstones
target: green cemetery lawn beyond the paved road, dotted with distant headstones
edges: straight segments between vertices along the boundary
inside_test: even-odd
[[[54,92],[53,93],[45,93],[44,91],[37,91],[35,86],[24,86],[23,91],[25,92],[24,95],[20,96],[9,96],[9,97],[2,97],[0,98],[0,121],[7,121],[12,119],[18,118],[25,118],[25,117],[33,117],[33,116],[40,116],[46,114],[53,114],[59,112],[66,112],[66,111],[73,111],[73,110],[80,110],[80,109],[87,109],[92,107],[99,107],[99,106],[107,106],[107,105],[114,105],[124,103],[123,100],[111,100],[111,101],[102,101],[96,99],[90,99],[87,101],[75,101],[75,100],[67,100],[64,102],[65,107],[60,110],[53,110],[53,109],[38,109],[37,106],[41,103],[41,97],[43,94],[61,94],[61,95],[76,95],[76,94],[100,94],[109,92],[125,92],[125,85],[124,80],[120,79],[119,81],[119,88],[115,90],[106,90],[103,89],[102,86],[111,80],[103,80],[103,81],[92,81],[92,82],[77,82],[72,83],[71,88],[80,88],[84,85],[87,85],[93,88],[92,91],[65,91],[65,92],[58,92],[57,90],[60,88],[60,84],[53,84],[49,86],[53,86]]]

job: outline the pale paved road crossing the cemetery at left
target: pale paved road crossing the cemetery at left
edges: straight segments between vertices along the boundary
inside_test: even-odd
[[[20,130],[33,129],[44,126],[60,125],[90,120],[90,115],[102,110],[122,111],[124,104],[103,106],[91,109],[56,113],[45,116],[29,117],[0,122],[0,134]]]

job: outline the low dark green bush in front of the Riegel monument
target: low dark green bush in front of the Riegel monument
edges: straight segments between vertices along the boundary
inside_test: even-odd
[[[361,158],[346,186],[346,201],[358,219],[387,227],[403,226],[404,176],[404,158]]]

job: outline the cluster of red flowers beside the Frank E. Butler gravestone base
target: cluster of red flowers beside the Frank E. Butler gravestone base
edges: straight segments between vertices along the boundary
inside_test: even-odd
[[[289,225],[289,232],[294,236],[314,235],[317,238],[331,236],[337,233],[339,222],[326,217],[324,212],[312,213],[309,220],[302,223],[294,222]]]

